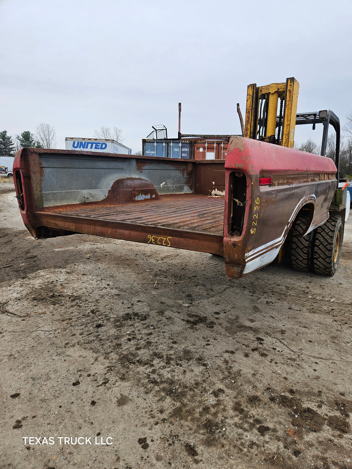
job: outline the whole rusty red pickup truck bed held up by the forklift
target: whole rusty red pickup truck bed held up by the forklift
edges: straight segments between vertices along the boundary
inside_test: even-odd
[[[301,211],[302,236],[324,224],[336,172],[329,158],[240,136],[225,161],[21,149],[14,162],[34,237],[86,233],[218,254],[230,278],[272,262]]]

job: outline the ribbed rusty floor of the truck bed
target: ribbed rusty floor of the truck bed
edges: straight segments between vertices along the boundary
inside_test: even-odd
[[[44,211],[80,218],[124,221],[222,235],[224,197],[170,194],[162,195],[161,200],[124,205],[81,203],[46,207]]]

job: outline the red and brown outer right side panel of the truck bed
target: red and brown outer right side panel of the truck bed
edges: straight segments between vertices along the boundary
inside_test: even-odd
[[[302,235],[329,218],[337,168],[332,159],[243,137],[230,140],[226,159],[224,254],[227,275],[238,278],[272,262],[298,214],[310,211]],[[230,232],[233,195],[231,177],[246,177],[242,234]],[[260,177],[273,183],[259,185]]]

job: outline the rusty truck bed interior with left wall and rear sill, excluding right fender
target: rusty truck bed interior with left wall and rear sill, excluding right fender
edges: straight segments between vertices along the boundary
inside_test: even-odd
[[[35,238],[84,233],[223,255],[224,164],[21,149],[14,166]]]

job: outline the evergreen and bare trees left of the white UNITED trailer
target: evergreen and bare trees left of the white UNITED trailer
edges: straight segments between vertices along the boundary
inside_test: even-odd
[[[24,130],[21,135],[12,138],[7,130],[0,132],[0,156],[15,156],[16,151],[22,147],[29,148],[55,148],[56,131],[50,124],[41,123],[33,134]]]

